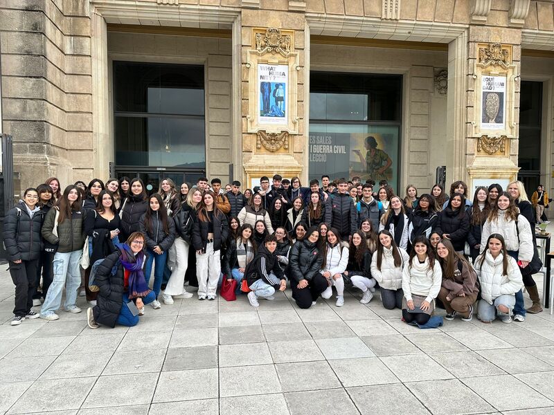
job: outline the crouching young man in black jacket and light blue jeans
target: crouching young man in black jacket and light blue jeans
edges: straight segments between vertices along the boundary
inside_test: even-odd
[[[248,301],[253,307],[260,306],[259,298],[274,299],[275,290],[285,291],[287,280],[281,270],[275,250],[277,238],[275,235],[267,235],[263,246],[260,247],[256,257],[244,270],[244,278],[247,279],[249,288]]]

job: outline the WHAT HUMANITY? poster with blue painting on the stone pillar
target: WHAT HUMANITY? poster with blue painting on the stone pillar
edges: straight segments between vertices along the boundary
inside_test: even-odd
[[[287,125],[289,66],[258,64],[260,124]]]

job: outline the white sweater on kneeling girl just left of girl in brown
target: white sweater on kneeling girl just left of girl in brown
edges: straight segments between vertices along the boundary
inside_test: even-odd
[[[430,303],[436,299],[440,291],[440,284],[443,282],[443,270],[440,269],[440,264],[435,261],[433,270],[429,270],[429,257],[425,258],[425,262],[420,264],[416,255],[409,262],[404,264],[402,271],[402,291],[406,301],[412,299],[412,295],[425,296],[425,301]]]

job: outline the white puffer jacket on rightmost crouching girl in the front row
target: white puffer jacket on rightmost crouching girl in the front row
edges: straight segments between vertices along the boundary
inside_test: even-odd
[[[515,259],[508,255],[508,275],[503,275],[503,255],[496,259],[485,251],[485,260],[481,265],[483,254],[475,259],[475,271],[481,282],[481,298],[489,304],[503,294],[515,295],[524,285],[521,279],[521,270]]]

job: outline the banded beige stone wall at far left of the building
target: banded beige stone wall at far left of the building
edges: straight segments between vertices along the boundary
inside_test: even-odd
[[[3,131],[14,138],[21,187],[91,178],[87,0],[0,2]],[[37,183],[38,182],[38,183]]]

